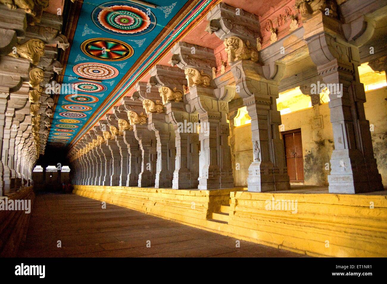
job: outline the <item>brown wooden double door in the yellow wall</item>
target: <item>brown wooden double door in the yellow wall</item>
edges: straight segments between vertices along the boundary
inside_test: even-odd
[[[304,181],[301,130],[283,132],[286,166],[290,182]]]

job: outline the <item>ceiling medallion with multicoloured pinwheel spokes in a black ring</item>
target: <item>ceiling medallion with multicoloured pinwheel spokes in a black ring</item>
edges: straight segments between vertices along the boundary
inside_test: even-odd
[[[121,61],[133,55],[133,48],[123,41],[111,38],[91,38],[84,41],[80,49],[91,58],[104,61]]]

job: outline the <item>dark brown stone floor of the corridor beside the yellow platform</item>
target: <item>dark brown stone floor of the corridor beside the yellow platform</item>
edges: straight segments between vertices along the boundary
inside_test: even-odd
[[[31,214],[19,257],[305,256],[72,194],[39,194]]]

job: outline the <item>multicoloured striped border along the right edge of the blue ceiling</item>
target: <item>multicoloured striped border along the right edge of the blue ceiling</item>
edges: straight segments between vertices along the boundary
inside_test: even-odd
[[[189,5],[186,8],[186,10],[188,10],[188,11],[192,10],[192,7],[190,7],[190,6],[192,6],[192,5],[195,6],[196,5],[195,2],[191,3],[191,5]],[[142,65],[142,67],[134,74],[134,77],[129,82],[127,82],[123,88],[120,87],[122,85],[122,82],[127,80],[127,78],[130,77],[133,74],[131,74],[129,76],[125,75],[125,77],[122,80],[120,80],[120,82],[117,85],[117,87],[106,98],[106,100],[110,100],[110,102],[105,104],[105,105],[101,105],[98,109],[96,109],[96,112],[91,116],[89,121],[87,121],[85,123],[85,125],[80,129],[80,131],[77,133],[77,135],[74,137],[74,139],[72,139],[72,141],[69,144],[69,147],[70,148],[73,147],[74,144],[76,142],[78,142],[79,139],[93,125],[95,125],[98,122],[98,120],[101,118],[101,116],[103,116],[106,112],[108,112],[113,107],[113,105],[117,103],[118,99],[122,98],[125,95],[125,93],[132,86],[134,86],[136,80],[139,79],[139,77],[141,75],[146,74],[146,71],[149,70],[149,68],[151,67],[152,63],[154,63],[165,51],[167,51],[168,48],[171,47],[171,45],[173,43],[175,43],[175,41],[182,35],[182,33],[184,33],[190,27],[193,26],[194,21],[195,21],[195,19],[197,19],[197,17],[203,17],[205,14],[202,14],[202,13],[206,13],[208,10],[211,9],[212,6],[216,5],[216,3],[218,3],[218,2],[219,2],[219,0],[203,0],[201,3],[199,3],[196,6],[196,8],[190,14],[184,15],[185,13],[183,13],[183,15],[180,15],[180,17],[178,17],[176,19],[176,21],[180,21],[182,18],[183,18],[183,21],[178,26],[178,28],[174,32],[170,31],[170,33],[172,32],[172,34],[171,34],[171,36],[168,39],[161,39],[161,37],[156,39],[156,40],[158,40],[159,46],[161,45],[157,49],[156,53],[151,58],[149,58],[146,63],[140,64],[140,66]],[[164,43],[162,43],[163,41],[164,41]],[[160,44],[160,43],[162,43],[162,44]],[[149,55],[149,53],[148,53],[148,55]],[[137,62],[138,62],[138,60],[137,60]],[[137,63],[137,65],[138,65],[138,63]],[[137,68],[133,68],[133,70],[137,70]],[[121,89],[121,90],[119,92],[116,92],[116,89]],[[115,93],[115,95],[113,95],[114,93]]]

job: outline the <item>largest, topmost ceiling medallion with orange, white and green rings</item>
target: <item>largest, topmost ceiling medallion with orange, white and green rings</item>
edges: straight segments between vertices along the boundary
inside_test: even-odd
[[[99,5],[92,13],[92,20],[103,31],[122,36],[140,36],[156,26],[156,17],[141,5],[115,1]]]

